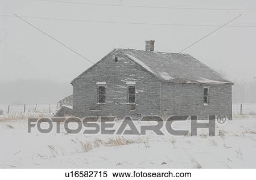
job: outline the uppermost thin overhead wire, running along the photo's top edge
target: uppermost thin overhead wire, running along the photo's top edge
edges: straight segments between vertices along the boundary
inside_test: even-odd
[[[54,1],[54,0],[37,0],[37,1],[55,2],[55,3],[69,3],[69,4],[79,4],[79,5],[112,6],[112,7],[162,8],[162,9],[181,9],[181,10],[256,11],[256,9],[249,9],[249,8],[201,8],[201,7],[196,7],[195,8],[195,7],[113,5],[113,4],[102,4],[102,3],[69,2],[69,1]]]

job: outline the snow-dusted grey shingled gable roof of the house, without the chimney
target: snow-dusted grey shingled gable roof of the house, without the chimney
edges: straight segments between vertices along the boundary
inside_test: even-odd
[[[135,49],[115,50],[163,82],[233,84],[189,54],[162,53]],[[104,59],[105,57],[101,61]],[[96,65],[101,61],[97,62]],[[83,72],[72,83],[96,65]]]

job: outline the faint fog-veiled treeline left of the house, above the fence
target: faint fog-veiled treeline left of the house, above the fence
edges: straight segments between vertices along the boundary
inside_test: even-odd
[[[72,86],[46,80],[1,82],[0,105],[55,104],[72,95]]]

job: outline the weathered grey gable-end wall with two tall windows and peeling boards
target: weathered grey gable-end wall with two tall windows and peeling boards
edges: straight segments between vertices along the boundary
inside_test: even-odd
[[[114,62],[115,55],[118,62]],[[73,114],[79,117],[160,114],[160,82],[118,52],[73,83]],[[106,82],[106,104],[97,103],[97,82]],[[127,104],[127,82],[136,82],[136,104]]]

